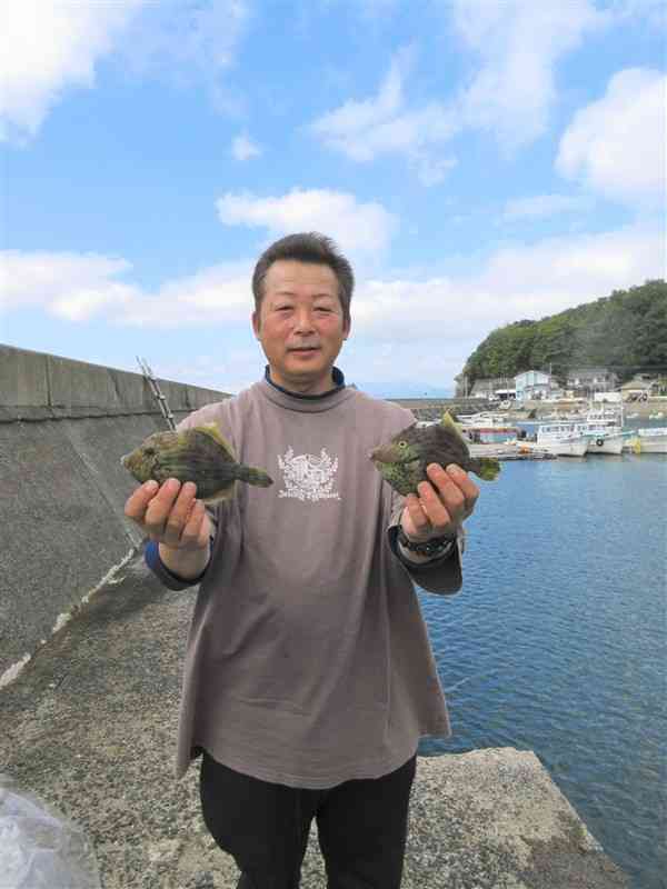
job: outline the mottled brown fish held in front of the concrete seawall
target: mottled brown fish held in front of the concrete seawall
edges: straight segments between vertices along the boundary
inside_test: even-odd
[[[120,462],[140,482],[193,481],[197,497],[208,506],[231,499],[237,481],[260,488],[273,483],[263,469],[237,462],[231,444],[216,423],[153,432]]]

